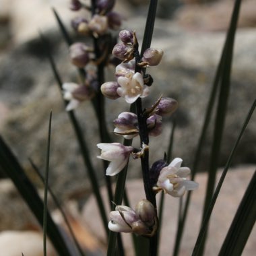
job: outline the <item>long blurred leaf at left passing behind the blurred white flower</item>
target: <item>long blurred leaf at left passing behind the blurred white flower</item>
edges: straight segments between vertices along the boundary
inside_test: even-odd
[[[42,38],[42,42],[44,44],[46,53],[49,57],[49,61],[51,63],[51,69],[53,71],[53,74],[55,75],[55,79],[56,79],[57,84],[61,90],[61,86],[63,84],[61,81],[61,76],[59,75],[59,72],[57,71],[57,67],[53,60],[53,56],[51,55],[51,52],[49,51],[49,47],[48,47],[48,44],[47,44],[45,38],[42,35],[41,35],[41,38]],[[64,100],[64,102],[66,105],[67,101]],[[96,201],[97,201],[98,209],[100,211],[100,217],[102,218],[104,230],[105,230],[106,234],[108,234],[108,220],[106,218],[106,211],[104,208],[102,197],[100,195],[100,190],[99,190],[100,185],[98,184],[98,180],[96,178],[96,171],[94,169],[94,166],[92,165],[92,161],[90,158],[90,150],[88,150],[86,139],[84,139],[83,131],[79,125],[79,122],[77,121],[77,118],[75,117],[75,113],[73,113],[73,111],[69,111],[67,114],[69,115],[69,119],[70,119],[73,129],[75,131],[75,135],[77,137],[77,142],[79,143],[79,148],[82,153],[82,158],[84,160],[84,164],[88,170],[88,176],[90,179],[90,183],[92,185],[92,191],[96,197]]]

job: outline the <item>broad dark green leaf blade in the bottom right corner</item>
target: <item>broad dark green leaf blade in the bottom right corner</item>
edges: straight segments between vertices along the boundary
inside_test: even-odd
[[[256,220],[256,171],[228,230],[219,256],[240,256]]]

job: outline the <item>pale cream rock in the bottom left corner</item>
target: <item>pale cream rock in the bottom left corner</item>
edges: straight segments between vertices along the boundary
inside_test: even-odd
[[[35,231],[0,232],[0,247],[5,256],[18,256],[22,253],[26,256],[43,256],[42,234]],[[49,241],[47,255],[57,256]]]

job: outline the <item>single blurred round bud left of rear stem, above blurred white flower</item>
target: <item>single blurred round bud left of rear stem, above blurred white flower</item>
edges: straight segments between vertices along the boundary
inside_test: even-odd
[[[75,42],[69,47],[71,62],[77,67],[84,67],[89,61],[88,46],[82,42]]]

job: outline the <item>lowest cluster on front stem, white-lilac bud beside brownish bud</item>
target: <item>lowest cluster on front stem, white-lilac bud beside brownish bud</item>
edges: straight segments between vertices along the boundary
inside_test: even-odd
[[[150,201],[139,201],[135,210],[130,207],[117,205],[115,211],[110,212],[108,228],[114,232],[125,232],[141,236],[154,236],[158,226],[156,210]]]

